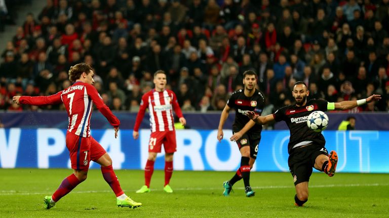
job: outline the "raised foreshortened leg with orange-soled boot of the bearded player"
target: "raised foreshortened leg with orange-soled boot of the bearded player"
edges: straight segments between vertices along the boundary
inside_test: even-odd
[[[331,151],[330,154],[328,154],[326,148],[320,148],[319,151],[315,152],[315,155],[315,169],[324,172],[329,177],[334,176],[338,162],[336,151]]]

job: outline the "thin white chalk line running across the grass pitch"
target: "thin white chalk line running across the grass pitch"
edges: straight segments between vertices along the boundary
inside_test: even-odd
[[[386,184],[372,183],[372,184],[328,184],[328,185],[310,185],[309,188],[331,188],[331,187],[369,187],[369,186],[389,186]],[[284,188],[293,188],[293,185],[290,186],[255,186],[253,189],[284,189]],[[175,188],[174,191],[212,191],[212,190],[222,190],[223,188]],[[244,189],[243,187],[237,187],[234,189]],[[135,192],[136,190],[124,190],[128,193]],[[163,191],[162,189],[151,189],[151,191]],[[72,191],[71,193],[105,193],[112,192],[112,190],[101,190],[101,191]],[[18,192],[16,190],[0,190],[0,196],[2,195],[44,195],[49,194],[47,192]]]

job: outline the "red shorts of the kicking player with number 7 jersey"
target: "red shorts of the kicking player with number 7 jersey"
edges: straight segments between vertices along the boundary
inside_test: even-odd
[[[88,171],[89,162],[98,160],[106,153],[105,149],[92,137],[81,137],[66,133],[66,147],[69,150],[71,169]]]

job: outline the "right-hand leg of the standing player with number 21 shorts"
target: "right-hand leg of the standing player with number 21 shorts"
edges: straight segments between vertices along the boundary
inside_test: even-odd
[[[176,131],[166,131],[165,138],[163,140],[165,148],[165,185],[164,191],[172,193],[173,190],[170,187],[170,179],[173,175],[173,155],[177,151]]]

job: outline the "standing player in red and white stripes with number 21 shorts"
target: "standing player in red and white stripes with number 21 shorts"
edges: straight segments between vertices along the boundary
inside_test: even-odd
[[[171,193],[169,185],[173,174],[173,154],[176,151],[176,131],[174,129],[173,110],[182,125],[186,124],[178,105],[176,94],[166,88],[166,73],[159,70],[154,73],[155,88],[142,96],[138,115],[134,126],[133,137],[139,137],[139,126],[143,120],[146,108],[150,114],[151,135],[148,144],[148,158],[144,169],[145,185],[137,193],[150,192],[150,180],[154,171],[154,161],[157,153],[161,152],[162,144],[165,148],[165,186],[164,191]]]

